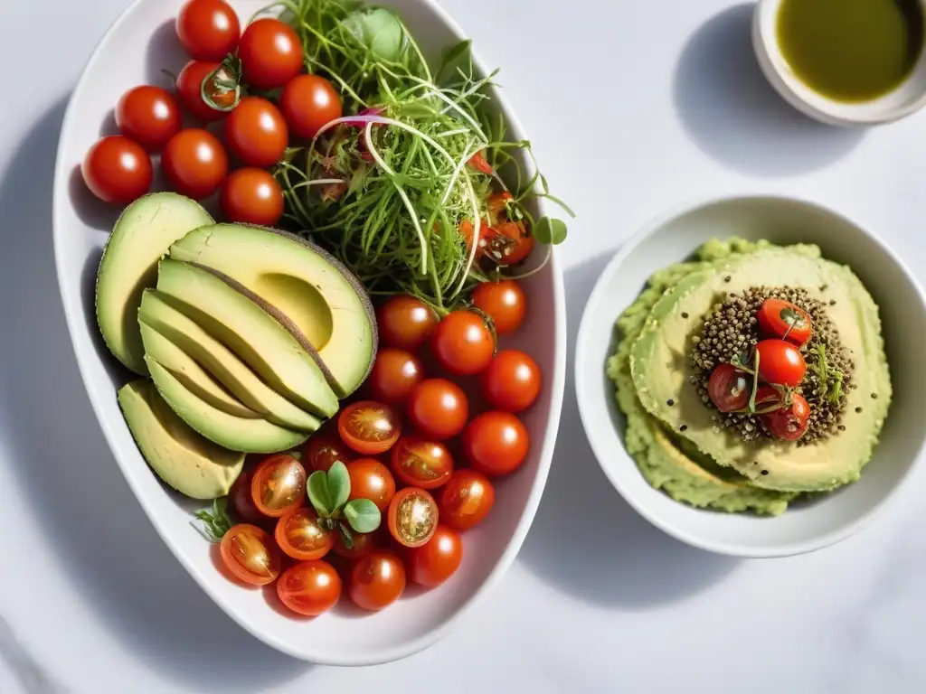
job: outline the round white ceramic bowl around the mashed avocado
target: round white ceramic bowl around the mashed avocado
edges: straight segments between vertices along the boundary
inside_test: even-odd
[[[881,307],[894,401],[874,456],[857,483],[820,501],[796,503],[777,517],[723,514],[675,502],[650,487],[624,450],[623,415],[605,374],[614,322],[657,269],[678,263],[703,242],[741,236],[812,242],[848,264]],[[742,197],[695,204],[660,217],[623,246],[585,306],[576,346],[576,394],[582,424],[608,479],[653,525],[695,547],[746,557],[818,550],[855,533],[907,477],[926,438],[926,297],[903,262],[857,224],[819,205],[789,198]]]

